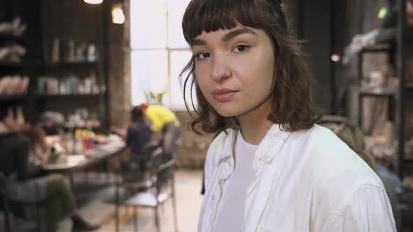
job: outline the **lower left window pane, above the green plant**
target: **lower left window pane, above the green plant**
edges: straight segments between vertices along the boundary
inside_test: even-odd
[[[132,51],[132,104],[146,101],[144,92],[160,93],[168,89],[167,50]],[[164,103],[167,101],[164,99]]]

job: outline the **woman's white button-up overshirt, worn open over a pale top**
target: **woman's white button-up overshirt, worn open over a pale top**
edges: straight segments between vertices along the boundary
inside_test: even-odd
[[[207,152],[199,232],[213,231],[236,135],[221,133]],[[395,231],[381,180],[328,129],[290,133],[274,124],[255,150],[253,168],[241,231]]]

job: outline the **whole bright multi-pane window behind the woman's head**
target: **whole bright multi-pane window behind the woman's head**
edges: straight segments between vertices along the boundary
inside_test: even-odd
[[[146,101],[145,92],[165,92],[166,106],[185,109],[183,81],[179,82],[178,77],[192,55],[181,27],[189,1],[130,1],[133,105]]]

